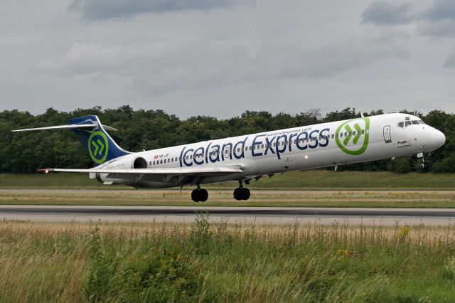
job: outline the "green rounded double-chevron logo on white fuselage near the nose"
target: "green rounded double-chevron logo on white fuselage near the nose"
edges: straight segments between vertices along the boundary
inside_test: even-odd
[[[352,119],[336,129],[335,142],[346,154],[358,156],[368,147],[370,118]]]

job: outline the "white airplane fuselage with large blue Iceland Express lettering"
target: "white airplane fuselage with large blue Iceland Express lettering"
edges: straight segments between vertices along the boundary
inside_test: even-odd
[[[186,168],[239,166],[242,173],[211,176],[201,184],[240,181],[283,171],[390,159],[429,152],[445,142],[444,134],[418,118],[406,114],[328,122],[272,132],[141,151],[97,166],[98,169],[131,169],[136,159],[145,159],[141,168]],[[107,184],[144,188],[165,188],[193,184],[185,179],[107,179]]]

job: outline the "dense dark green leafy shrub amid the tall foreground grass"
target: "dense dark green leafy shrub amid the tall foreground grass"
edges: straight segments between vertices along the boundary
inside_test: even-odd
[[[99,238],[93,238],[99,243]],[[137,247],[134,247],[137,245]],[[201,285],[195,265],[176,245],[135,243],[98,248],[85,284],[90,302],[193,302]]]

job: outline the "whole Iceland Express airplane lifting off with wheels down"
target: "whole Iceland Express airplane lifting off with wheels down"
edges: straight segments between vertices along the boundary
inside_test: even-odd
[[[40,169],[88,173],[106,185],[134,188],[196,186],[194,202],[208,199],[203,184],[237,181],[233,198],[246,201],[244,184],[262,176],[286,171],[318,169],[417,154],[421,169],[428,169],[426,156],[441,147],[446,137],[408,114],[386,114],[309,126],[246,134],[176,147],[129,152],[119,147],[95,116],[70,119],[68,125],[16,129],[27,132],[68,129],[74,132],[96,165],[92,169]]]

